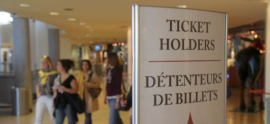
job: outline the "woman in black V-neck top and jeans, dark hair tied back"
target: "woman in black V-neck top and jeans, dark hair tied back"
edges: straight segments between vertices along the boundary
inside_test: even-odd
[[[67,116],[69,124],[76,124],[78,121],[72,101],[68,98],[77,95],[79,89],[74,76],[68,73],[73,65],[71,60],[59,60],[56,65],[57,72],[60,73],[55,79],[54,85],[56,124],[63,124],[65,116]]]

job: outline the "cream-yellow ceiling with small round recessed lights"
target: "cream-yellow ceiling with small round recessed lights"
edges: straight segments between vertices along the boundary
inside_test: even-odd
[[[20,4],[30,4],[30,7],[20,7]],[[267,0],[0,0],[0,11],[56,25],[66,31],[62,37],[78,43],[125,42],[133,4],[187,5],[192,9],[227,12],[228,28],[233,28],[264,20]],[[64,11],[64,8],[74,10]],[[50,12],[60,15],[49,15]],[[68,21],[68,18],[76,18],[76,21]],[[80,22],[86,25],[79,25]],[[86,26],[91,26],[93,31]],[[90,37],[86,37],[87,34]]]

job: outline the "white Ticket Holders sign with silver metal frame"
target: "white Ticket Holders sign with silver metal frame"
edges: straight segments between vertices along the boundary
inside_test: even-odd
[[[133,123],[226,121],[227,14],[133,6]]]

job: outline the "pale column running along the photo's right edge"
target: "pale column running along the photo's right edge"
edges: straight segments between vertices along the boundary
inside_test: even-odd
[[[270,93],[270,0],[268,0],[266,13],[266,28],[265,28],[265,75],[264,75],[264,89],[265,92]],[[270,95],[265,95],[265,124],[270,123]]]

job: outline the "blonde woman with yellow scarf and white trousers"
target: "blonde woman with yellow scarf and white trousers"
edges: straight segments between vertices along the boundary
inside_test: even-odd
[[[40,71],[38,71],[38,82],[36,85],[37,101],[34,124],[42,123],[46,109],[48,110],[52,123],[55,124],[52,86],[57,72],[54,70],[52,60],[47,55],[41,58],[40,63]]]

